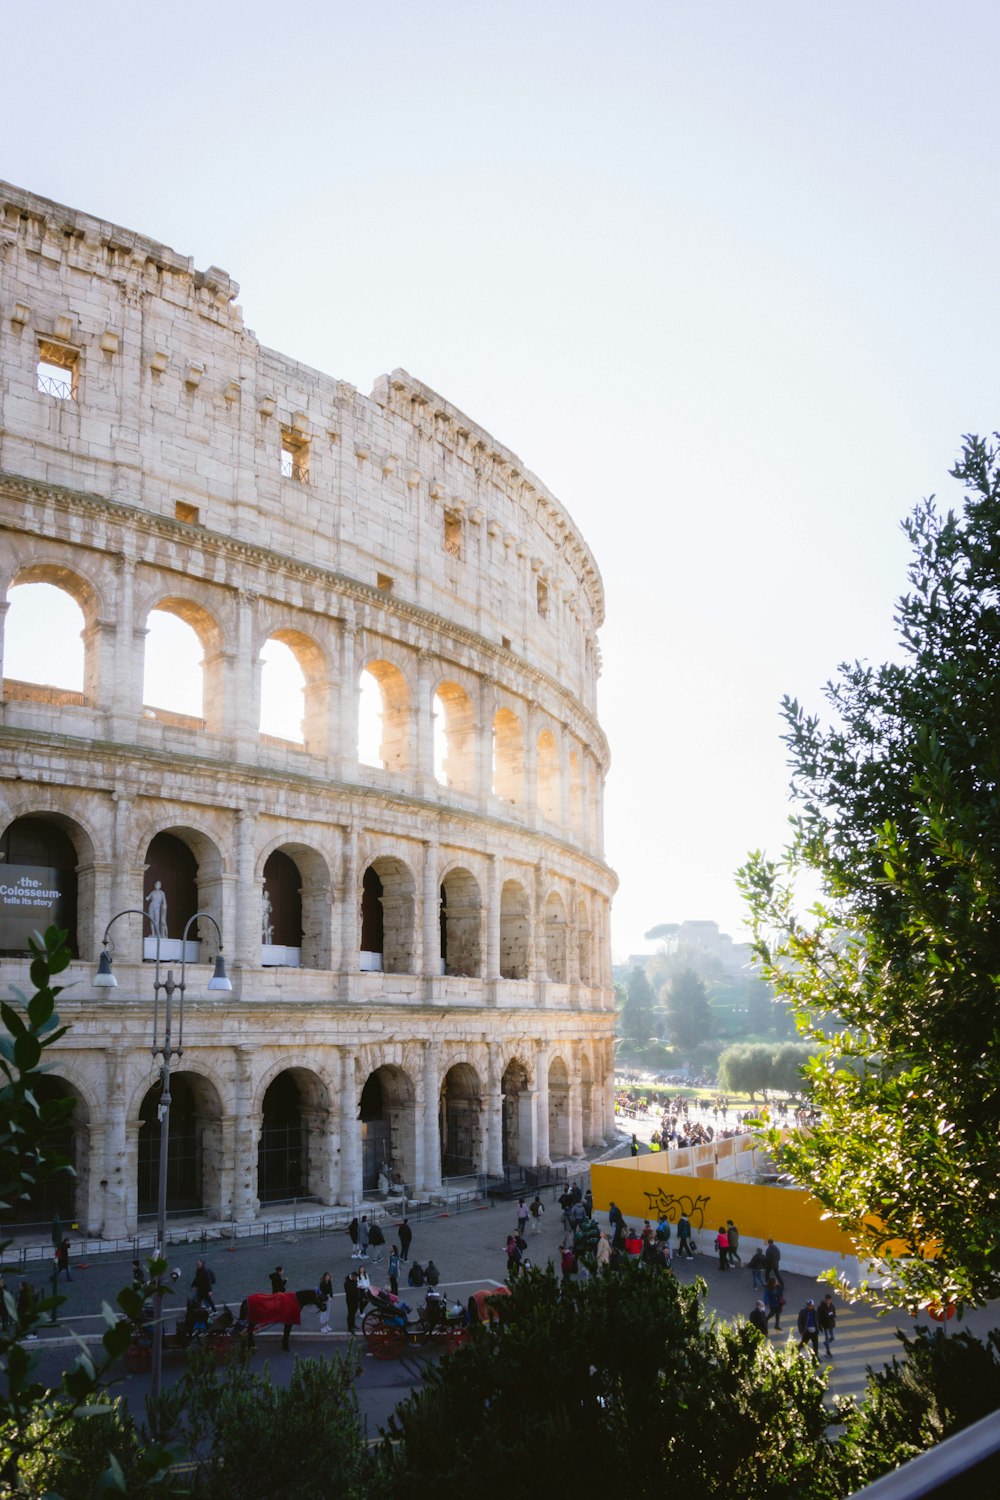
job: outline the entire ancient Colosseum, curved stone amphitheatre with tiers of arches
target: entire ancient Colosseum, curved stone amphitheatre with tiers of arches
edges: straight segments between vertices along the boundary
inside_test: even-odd
[[[405,370],[363,396],[261,346],[214,266],[0,184],[0,267],[3,993],[31,930],[73,954],[45,1088],[76,1176],[22,1221],[153,1214],[168,964],[171,1212],[586,1154],[615,1128],[615,876],[573,520]],[[30,585],[79,630],[72,686],[58,645],[7,668]],[[165,616],[196,712],[147,672]]]

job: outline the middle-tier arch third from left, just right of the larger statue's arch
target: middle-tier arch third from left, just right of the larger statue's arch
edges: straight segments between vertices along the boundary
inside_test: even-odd
[[[309,844],[274,840],[261,864],[259,890],[261,963],[328,969],[333,884],[325,858]]]

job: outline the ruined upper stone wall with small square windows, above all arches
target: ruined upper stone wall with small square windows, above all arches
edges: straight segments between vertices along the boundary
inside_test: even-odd
[[[217,267],[0,183],[0,470],[378,586],[592,708],[603,586],[559,501],[405,370],[366,398],[261,346],[237,294]],[[73,399],[39,390],[39,350]]]

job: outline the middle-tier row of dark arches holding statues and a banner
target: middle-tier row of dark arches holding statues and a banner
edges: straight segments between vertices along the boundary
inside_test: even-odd
[[[153,933],[159,930],[165,957],[181,957],[163,944],[178,945],[189,920],[207,910],[223,927],[231,957],[252,966],[603,982],[591,900],[574,900],[568,884],[543,888],[496,873],[490,890],[454,858],[417,870],[397,854],[361,860],[355,846],[348,854],[354,876],[337,894],[334,867],[343,850],[324,854],[294,838],[279,843],[258,855],[246,886],[237,888],[246,920],[235,914],[228,921],[222,849],[204,832],[160,830],[139,842],[129,861],[141,874],[141,897],[136,886],[118,898],[121,910],[141,906],[156,915],[142,942],[141,956],[150,960]],[[99,862],[85,830],[64,814],[9,822],[0,834],[7,892],[0,904],[0,954],[25,952],[28,934],[55,921],[69,933],[75,957],[96,957],[112,909],[106,906],[90,932],[81,912],[97,906]],[[48,906],[39,906],[39,896],[51,897]],[[228,936],[234,928],[243,940]],[[183,957],[199,952],[192,945]]]

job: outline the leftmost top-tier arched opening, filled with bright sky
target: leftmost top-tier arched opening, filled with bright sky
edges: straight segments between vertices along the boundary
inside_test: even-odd
[[[3,696],[58,706],[85,702],[85,616],[66,588],[18,582],[7,592]]]

